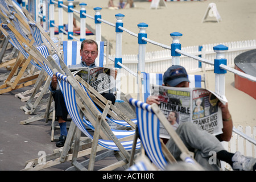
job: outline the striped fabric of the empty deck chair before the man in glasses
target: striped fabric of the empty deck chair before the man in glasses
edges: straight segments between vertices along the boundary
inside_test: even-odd
[[[88,133],[86,130],[86,125],[84,125],[84,120],[81,120],[80,115],[79,115],[79,109],[77,107],[77,102],[76,102],[76,92],[75,89],[72,87],[71,84],[69,84],[67,80],[67,76],[62,75],[61,73],[57,72],[56,76],[60,85],[61,92],[63,92],[65,104],[67,106],[67,110],[69,115],[71,115],[72,121],[75,122],[76,126],[79,127],[79,129],[89,138],[93,139],[93,136]],[[86,121],[88,123],[89,121]],[[90,127],[90,126],[89,126]],[[112,130],[113,134],[117,138],[123,138],[123,137],[128,137],[131,135],[135,134],[135,131],[126,131],[126,130]],[[109,150],[119,150],[119,148],[116,146],[116,144],[112,140],[104,140],[104,139],[99,139],[98,144],[100,144],[102,147],[105,147]],[[126,150],[131,150],[133,146],[133,140],[121,142],[123,147]],[[137,147],[140,148],[141,143],[138,140]]]

